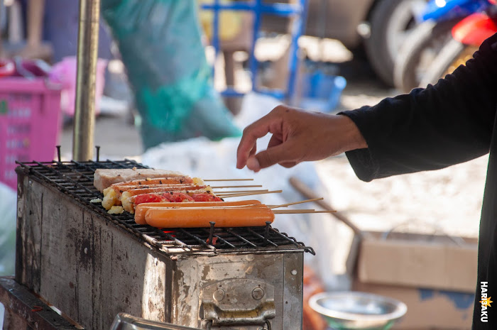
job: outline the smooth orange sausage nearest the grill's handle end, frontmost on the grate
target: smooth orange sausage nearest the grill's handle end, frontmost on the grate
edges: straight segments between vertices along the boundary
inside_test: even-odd
[[[274,214],[268,207],[180,207],[146,211],[147,224],[157,228],[266,226],[273,222]]]

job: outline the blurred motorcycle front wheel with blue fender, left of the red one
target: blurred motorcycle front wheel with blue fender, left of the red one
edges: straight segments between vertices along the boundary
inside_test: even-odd
[[[452,28],[471,13],[486,10],[488,0],[431,0],[418,21],[420,23],[405,39],[395,57],[395,87],[410,92],[418,87],[431,62],[451,38]]]

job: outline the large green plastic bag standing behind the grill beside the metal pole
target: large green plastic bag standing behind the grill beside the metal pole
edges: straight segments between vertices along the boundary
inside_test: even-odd
[[[142,117],[144,147],[241,131],[212,86],[196,0],[102,0]]]

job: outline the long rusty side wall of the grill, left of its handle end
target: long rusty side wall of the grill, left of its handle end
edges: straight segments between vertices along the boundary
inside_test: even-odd
[[[107,330],[119,312],[165,321],[168,255],[53,187],[22,183],[18,282],[85,329]]]

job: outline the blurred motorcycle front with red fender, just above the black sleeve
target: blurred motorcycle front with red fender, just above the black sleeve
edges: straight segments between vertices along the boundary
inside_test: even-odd
[[[459,65],[471,59],[486,38],[497,33],[496,0],[493,6],[483,13],[473,13],[452,28],[452,39],[444,45],[426,74],[422,77],[420,87],[435,84],[438,79],[452,73]]]

